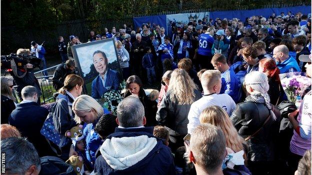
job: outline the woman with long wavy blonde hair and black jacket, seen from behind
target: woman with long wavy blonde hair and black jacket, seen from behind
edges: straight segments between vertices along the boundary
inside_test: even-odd
[[[188,73],[184,69],[173,70],[168,91],[156,113],[156,120],[177,133],[177,140],[181,141],[176,143],[177,146],[183,145],[182,138],[187,134],[190,105],[200,98],[201,93]]]

